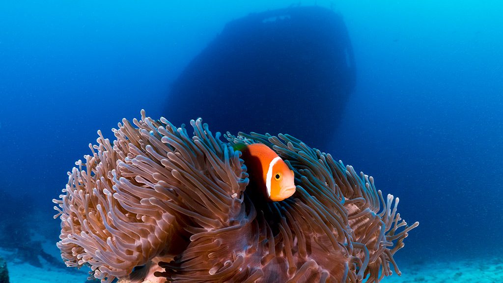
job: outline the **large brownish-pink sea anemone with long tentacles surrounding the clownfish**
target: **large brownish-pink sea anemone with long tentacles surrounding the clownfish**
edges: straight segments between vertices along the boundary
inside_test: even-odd
[[[98,131],[92,154],[68,173],[55,217],[67,266],[158,282],[379,282],[392,270],[408,226],[372,177],[279,134],[193,136],[141,111],[116,140]],[[263,143],[294,171],[296,192],[254,201],[233,143]],[[140,275],[138,275],[140,274]],[[155,276],[154,276],[155,275]]]

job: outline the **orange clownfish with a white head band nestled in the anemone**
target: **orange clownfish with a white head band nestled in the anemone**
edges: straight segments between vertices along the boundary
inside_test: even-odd
[[[295,193],[293,171],[272,149],[264,144],[234,144],[242,153],[250,183],[257,185],[271,201],[281,201]]]

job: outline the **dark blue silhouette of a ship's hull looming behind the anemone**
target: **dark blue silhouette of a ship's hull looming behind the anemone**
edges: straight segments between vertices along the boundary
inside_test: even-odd
[[[341,15],[290,7],[233,20],[174,82],[164,116],[212,131],[288,133],[323,149],[355,86]]]

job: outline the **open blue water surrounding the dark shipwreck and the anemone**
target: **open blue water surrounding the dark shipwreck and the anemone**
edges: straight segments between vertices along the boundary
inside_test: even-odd
[[[323,132],[326,144],[309,146],[373,176],[400,198],[402,218],[420,222],[395,257],[403,275],[382,281],[434,281],[428,264],[442,266],[439,278],[503,279],[487,275],[503,268],[500,2],[1,1],[0,255],[13,266],[11,282],[42,282],[29,276],[49,271],[85,282],[86,272],[59,261],[51,200],[97,130],[112,138],[110,129],[141,109],[178,119],[166,111],[172,84],[225,24],[291,5],[339,13],[356,65],[333,126],[298,123],[295,136]],[[253,115],[270,114],[261,110]],[[284,115],[315,110],[299,103]],[[244,127],[247,117],[235,119]],[[43,255],[28,262],[23,253],[39,247]],[[459,268],[463,260],[476,263]]]

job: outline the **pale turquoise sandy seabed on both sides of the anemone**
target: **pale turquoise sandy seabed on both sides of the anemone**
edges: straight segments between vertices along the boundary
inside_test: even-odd
[[[76,269],[45,266],[35,267],[15,257],[12,252],[0,250],[8,262],[11,283],[85,283],[87,268]],[[41,262],[46,264],[43,260]],[[381,283],[495,283],[503,282],[503,257],[481,257],[463,260],[417,262],[400,264],[401,276],[393,274]]]

